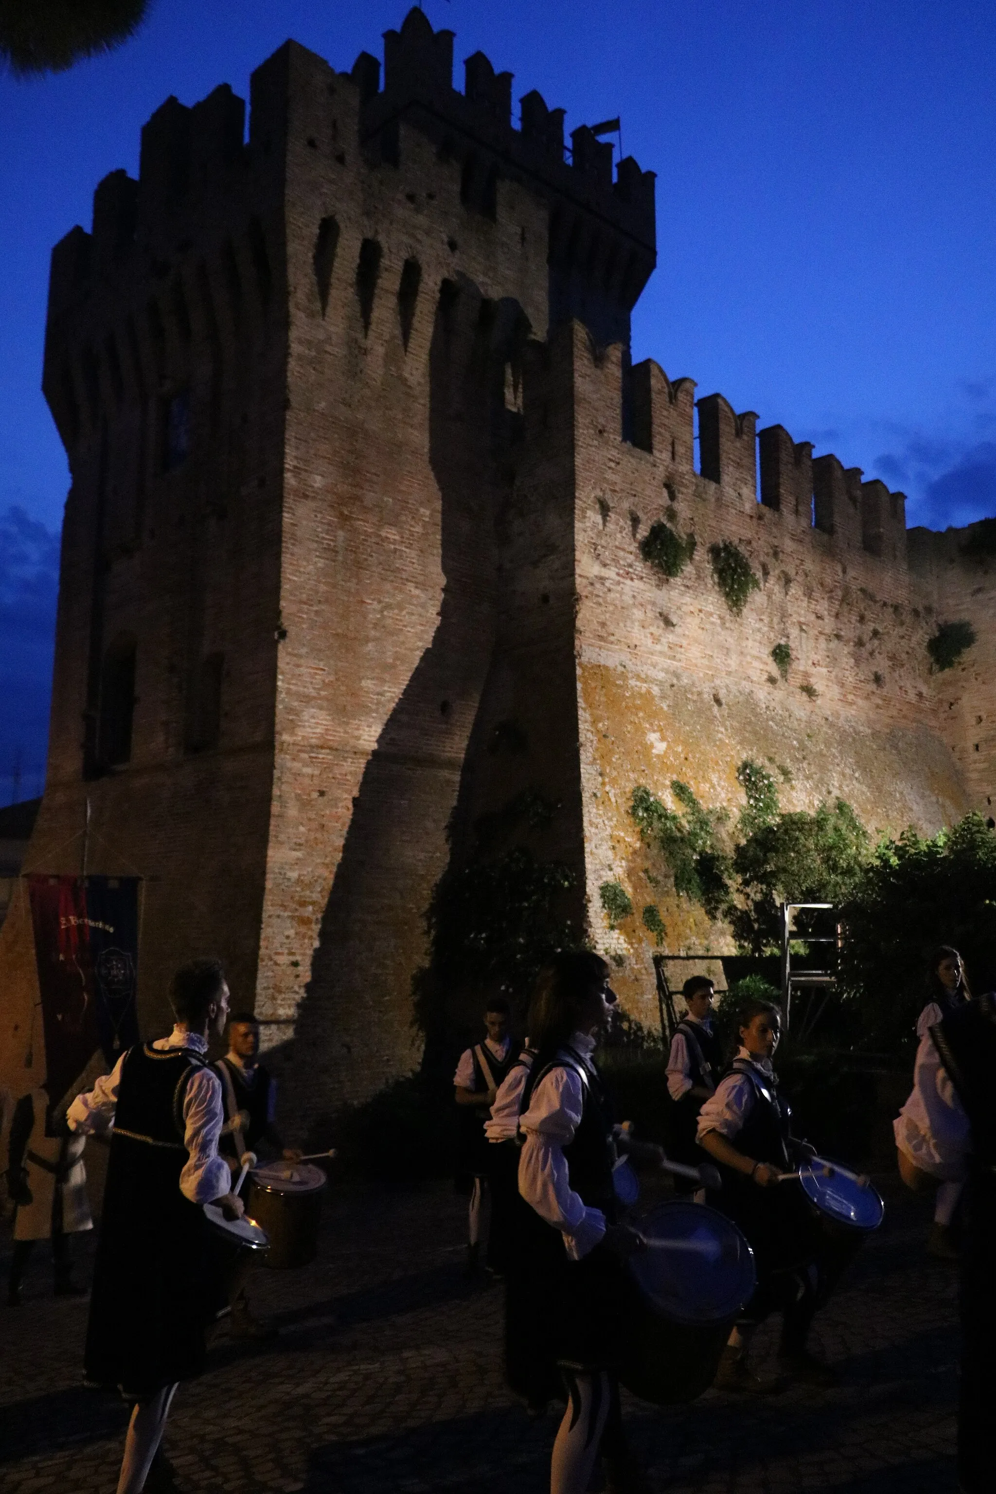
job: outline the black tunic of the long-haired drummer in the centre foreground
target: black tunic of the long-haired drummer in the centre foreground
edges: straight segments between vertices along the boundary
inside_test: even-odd
[[[521,1113],[536,1085],[554,1068],[581,1077],[584,1104],[573,1140],[564,1146],[573,1192],[608,1222],[617,1218],[612,1189],[612,1115],[600,1076],[579,1055],[558,1056],[530,1074]],[[514,1259],[506,1294],[506,1376],[527,1400],[548,1400],[563,1370],[612,1369],[620,1352],[626,1282],[618,1256],[597,1245],[579,1261],[564,1250],[563,1234],[518,1198]]]

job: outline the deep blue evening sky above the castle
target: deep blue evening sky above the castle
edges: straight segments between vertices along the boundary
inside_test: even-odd
[[[909,523],[996,514],[996,6],[992,0],[426,0],[567,130],[621,115],[657,172],[659,267],[635,357],[721,390],[909,495]],[[176,94],[287,36],[334,67],[406,6],[157,0],[137,40],[0,75],[0,804],[45,757],[61,445],[39,391],[48,257]]]

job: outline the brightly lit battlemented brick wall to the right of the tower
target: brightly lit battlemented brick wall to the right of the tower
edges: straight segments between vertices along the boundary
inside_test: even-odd
[[[572,336],[588,917],[599,947],[624,959],[623,999],[653,1025],[647,904],[663,914],[667,953],[733,946],[702,908],[648,880],[653,858],[629,814],[638,784],[672,804],[679,778],[702,804],[736,811],[736,768],[750,757],[775,775],[784,808],[841,796],[871,831],[891,834],[906,825],[935,832],[977,796],[945,738],[945,677],[930,672],[926,651],[938,604],[906,571],[902,496],[820,459],[827,508],[817,529],[814,483],[799,475],[809,451],[775,427],[776,460],[768,438],[757,502],[753,417],[736,417],[721,396],[699,426],[702,469],[718,481],[703,477],[691,463],[690,381],[670,385],[654,365],[636,371],[647,391],[642,439],[653,450],[624,444],[620,350],[596,359],[584,329]],[[691,563],[673,580],[639,553],[662,518],[696,536]],[[739,617],[712,577],[709,545],[723,541],[741,547],[760,581]],[[787,681],[771,657],[778,642],[791,648]],[[612,880],[635,907],[617,931],[599,899]]]

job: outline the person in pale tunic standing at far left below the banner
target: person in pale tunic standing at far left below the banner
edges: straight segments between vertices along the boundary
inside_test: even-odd
[[[7,1306],[21,1303],[24,1271],[36,1240],[52,1242],[55,1295],[84,1297],[73,1282],[70,1239],[93,1230],[87,1197],[84,1146],[87,1138],[66,1132],[49,1115],[45,1089],[21,1095],[13,1107],[7,1149],[7,1192],[16,1204]]]

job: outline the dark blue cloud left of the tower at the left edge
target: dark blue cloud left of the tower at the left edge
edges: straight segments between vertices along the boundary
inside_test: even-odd
[[[58,533],[15,503],[0,514],[0,804],[40,792],[57,598]]]

